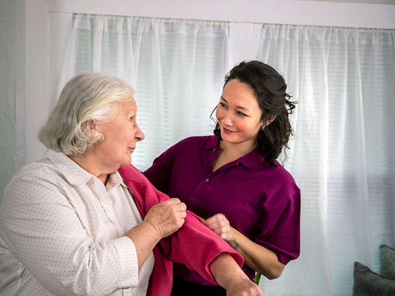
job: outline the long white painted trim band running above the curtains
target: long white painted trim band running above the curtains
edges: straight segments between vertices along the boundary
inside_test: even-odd
[[[395,5],[309,0],[49,0],[50,12],[395,29]]]

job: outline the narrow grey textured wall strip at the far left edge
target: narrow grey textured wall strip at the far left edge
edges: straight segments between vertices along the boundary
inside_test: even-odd
[[[0,201],[25,164],[25,1],[0,1]]]

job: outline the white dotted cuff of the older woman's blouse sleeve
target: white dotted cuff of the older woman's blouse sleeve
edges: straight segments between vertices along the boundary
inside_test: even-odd
[[[113,243],[118,250],[120,260],[118,287],[121,289],[137,287],[139,267],[133,241],[126,236],[122,236],[113,240]]]

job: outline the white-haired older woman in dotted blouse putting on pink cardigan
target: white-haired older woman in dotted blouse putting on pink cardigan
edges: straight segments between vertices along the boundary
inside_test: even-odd
[[[40,131],[49,151],[7,186],[0,211],[0,295],[170,294],[186,264],[228,295],[262,295],[242,258],[136,169],[118,169],[144,134],[134,90],[105,74],[63,88]]]

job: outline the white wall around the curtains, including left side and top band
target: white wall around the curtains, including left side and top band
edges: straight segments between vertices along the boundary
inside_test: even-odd
[[[29,163],[45,151],[37,141],[37,132],[52,108],[51,98],[58,92],[55,82],[67,46],[64,29],[71,25],[71,13],[245,22],[250,36],[231,37],[234,61],[254,58],[248,44],[252,36],[260,33],[260,26],[247,23],[395,29],[395,5],[387,4],[314,0],[0,0],[0,44],[4,49],[0,50],[1,105],[5,106],[0,113],[0,198],[25,157]],[[26,44],[21,38],[25,33]]]

